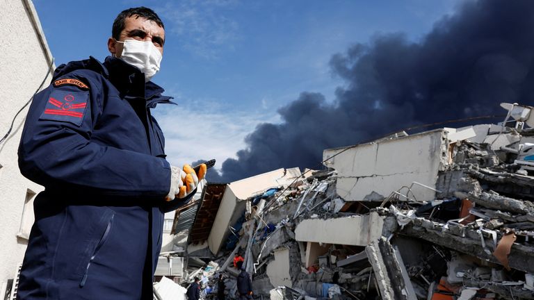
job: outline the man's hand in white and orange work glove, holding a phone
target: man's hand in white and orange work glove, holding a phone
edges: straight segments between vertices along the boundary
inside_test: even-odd
[[[170,166],[170,190],[165,200],[171,201],[175,198],[183,199],[187,197],[197,188],[198,181],[204,178],[206,171],[205,164],[200,165],[198,174],[195,173],[195,170],[190,165],[184,165],[182,169]]]

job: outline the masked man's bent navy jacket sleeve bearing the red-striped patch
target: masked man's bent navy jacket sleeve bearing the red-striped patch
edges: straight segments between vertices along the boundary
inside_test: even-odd
[[[22,174],[47,189],[165,197],[170,188],[169,163],[92,139],[102,115],[101,87],[95,79],[67,77],[87,87],[50,85],[35,95],[19,144]]]

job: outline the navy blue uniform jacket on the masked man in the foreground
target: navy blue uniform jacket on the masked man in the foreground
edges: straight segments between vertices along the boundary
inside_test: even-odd
[[[163,89],[118,58],[61,65],[35,95],[19,145],[43,185],[18,299],[152,299],[170,165],[150,113]],[[193,195],[192,193],[191,195]]]

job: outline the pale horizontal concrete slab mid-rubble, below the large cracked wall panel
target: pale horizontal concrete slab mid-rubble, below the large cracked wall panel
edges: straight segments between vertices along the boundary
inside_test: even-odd
[[[375,212],[335,219],[305,219],[295,228],[295,240],[366,246],[382,236],[383,225],[383,217]]]

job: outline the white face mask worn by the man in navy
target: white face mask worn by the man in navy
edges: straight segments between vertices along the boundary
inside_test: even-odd
[[[145,74],[145,82],[150,81],[159,71],[159,64],[163,58],[156,46],[152,42],[138,40],[124,40],[120,43],[124,45],[120,59],[140,69]]]

